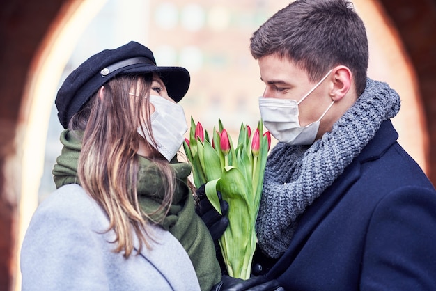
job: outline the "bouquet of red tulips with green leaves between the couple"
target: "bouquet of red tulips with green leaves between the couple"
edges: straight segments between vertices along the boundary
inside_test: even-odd
[[[219,246],[228,274],[247,279],[256,249],[255,223],[271,136],[270,132],[263,133],[261,121],[253,134],[242,123],[234,147],[221,120],[218,128],[214,127],[209,136],[201,123],[195,124],[191,118],[189,140],[185,139],[183,146],[192,164],[195,186],[205,184],[206,196],[219,213],[217,191],[229,205],[229,226],[219,239]]]

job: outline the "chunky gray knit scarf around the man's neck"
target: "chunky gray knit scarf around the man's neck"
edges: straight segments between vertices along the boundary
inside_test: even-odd
[[[297,218],[373,139],[384,120],[400,110],[386,83],[368,79],[364,93],[311,146],[278,143],[268,156],[256,222],[260,249],[279,258],[290,244]]]

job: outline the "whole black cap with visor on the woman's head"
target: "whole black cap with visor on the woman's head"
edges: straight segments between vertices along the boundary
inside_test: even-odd
[[[56,95],[56,108],[63,128],[91,96],[119,74],[157,73],[169,97],[179,102],[189,88],[189,72],[181,67],[158,67],[153,52],[138,42],[105,49],[91,56],[65,79]]]

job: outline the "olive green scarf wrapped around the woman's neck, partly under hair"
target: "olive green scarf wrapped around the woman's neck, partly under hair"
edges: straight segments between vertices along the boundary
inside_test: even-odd
[[[79,136],[77,138],[76,136]],[[63,149],[56,159],[53,168],[56,188],[65,184],[80,184],[77,178],[77,162],[81,150],[80,134],[74,134],[66,129],[61,134]],[[159,176],[157,166],[141,156],[139,157],[138,199],[141,209],[150,213],[157,210],[162,203],[164,187]],[[195,213],[194,198],[187,187],[187,177],[191,173],[191,166],[177,161],[169,164],[176,175],[176,191],[169,213],[160,223],[162,227],[178,239],[187,251],[194,265],[201,290],[210,290],[221,280],[221,269],[215,256],[215,246],[208,228]],[[163,213],[153,215],[153,221],[161,221]],[[171,262],[169,262],[171,263]]]

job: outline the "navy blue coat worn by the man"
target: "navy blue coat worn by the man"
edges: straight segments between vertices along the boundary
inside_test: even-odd
[[[299,218],[268,278],[286,290],[436,290],[436,191],[382,123]]]

